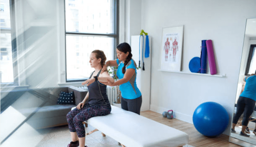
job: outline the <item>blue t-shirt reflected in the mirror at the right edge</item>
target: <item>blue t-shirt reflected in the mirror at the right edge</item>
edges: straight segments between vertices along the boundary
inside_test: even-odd
[[[256,76],[250,76],[245,78],[244,91],[240,95],[241,97],[246,97],[256,101]]]

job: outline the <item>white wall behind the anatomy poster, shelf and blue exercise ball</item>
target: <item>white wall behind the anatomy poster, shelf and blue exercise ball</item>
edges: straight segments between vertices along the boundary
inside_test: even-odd
[[[229,134],[247,18],[256,17],[256,1],[246,0],[143,0],[142,27],[152,36],[150,109],[158,113],[174,110],[176,118],[192,123],[198,105],[214,101],[229,113]],[[182,70],[200,56],[201,40],[214,45],[218,74],[207,77],[163,72],[159,69],[162,28],[184,25]],[[209,70],[208,70],[209,72]]]

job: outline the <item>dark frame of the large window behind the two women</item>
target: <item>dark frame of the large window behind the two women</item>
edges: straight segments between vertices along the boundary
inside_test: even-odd
[[[103,33],[84,33],[84,32],[70,32],[66,31],[66,0],[64,0],[64,18],[65,18],[65,72],[66,72],[66,77],[65,81],[66,83],[71,83],[71,82],[83,82],[89,78],[84,78],[84,79],[77,79],[77,80],[67,80],[67,58],[66,58],[66,36],[94,36],[94,37],[111,37],[114,38],[114,46],[113,46],[113,54],[114,58],[116,54],[115,47],[119,43],[119,0],[113,0],[114,1],[114,33],[108,33],[108,34],[103,34]]]

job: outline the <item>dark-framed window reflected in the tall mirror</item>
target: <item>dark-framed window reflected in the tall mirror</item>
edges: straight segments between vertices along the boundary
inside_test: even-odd
[[[251,75],[256,70],[256,44],[250,46],[245,75]]]

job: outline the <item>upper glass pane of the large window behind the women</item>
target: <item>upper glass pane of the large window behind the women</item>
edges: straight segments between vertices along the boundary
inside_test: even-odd
[[[66,0],[66,31],[114,33],[114,0]]]

